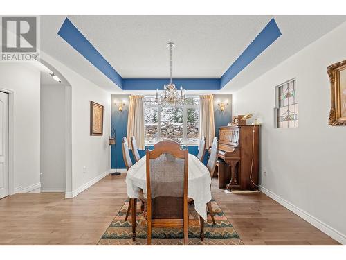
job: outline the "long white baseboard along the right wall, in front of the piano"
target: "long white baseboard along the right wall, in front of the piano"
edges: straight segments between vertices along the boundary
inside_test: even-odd
[[[276,202],[280,203],[282,206],[286,207],[286,209],[289,209],[294,214],[300,216],[300,218],[306,220],[311,225],[317,227],[322,231],[323,233],[330,236],[332,239],[335,239],[339,243],[346,245],[346,235],[338,232],[338,230],[334,229],[333,227],[327,225],[326,223],[323,223],[318,218],[315,218],[314,216],[311,216],[306,211],[300,209],[299,207],[296,207],[291,202],[288,202],[287,200],[284,200],[280,196],[277,196],[277,194],[273,193],[272,191],[269,191],[268,189],[260,186],[260,191],[262,191],[266,196],[272,198]]]

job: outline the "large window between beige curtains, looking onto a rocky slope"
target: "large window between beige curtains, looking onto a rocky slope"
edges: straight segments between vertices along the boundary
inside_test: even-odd
[[[199,97],[187,96],[185,105],[157,105],[154,96],[144,98],[145,144],[173,140],[179,144],[198,144]]]

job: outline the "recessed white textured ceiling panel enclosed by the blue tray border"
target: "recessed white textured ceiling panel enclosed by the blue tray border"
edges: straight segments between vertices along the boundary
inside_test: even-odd
[[[167,42],[176,44],[175,77],[219,78],[271,19],[251,15],[69,18],[123,78],[169,76]]]

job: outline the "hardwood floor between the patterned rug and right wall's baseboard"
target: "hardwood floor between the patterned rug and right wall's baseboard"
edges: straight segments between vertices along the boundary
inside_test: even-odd
[[[245,245],[340,245],[264,193],[226,194],[217,180],[212,191]]]

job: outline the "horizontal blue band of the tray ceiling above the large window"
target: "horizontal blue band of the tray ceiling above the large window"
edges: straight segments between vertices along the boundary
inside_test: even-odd
[[[219,78],[173,78],[172,82],[177,89],[183,86],[186,90],[219,90]],[[162,90],[163,85],[170,83],[169,78],[124,78],[124,90]]]

